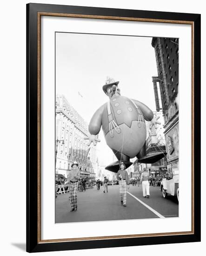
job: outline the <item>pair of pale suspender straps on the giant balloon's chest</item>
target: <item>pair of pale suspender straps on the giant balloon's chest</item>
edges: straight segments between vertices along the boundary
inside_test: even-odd
[[[143,126],[145,128],[145,119],[144,119],[144,116],[142,115],[140,108],[137,107],[137,105],[134,103],[133,100],[130,99],[130,101],[133,102],[133,104],[138,112],[138,127],[140,128],[141,122],[143,122]],[[115,131],[118,134],[121,133],[121,129],[119,128],[119,126],[116,124],[116,122],[113,119],[113,115],[111,113],[110,101],[107,101],[107,113],[108,113],[108,121],[109,121],[109,133],[110,133],[110,137],[113,138],[114,137],[113,128],[115,129]]]

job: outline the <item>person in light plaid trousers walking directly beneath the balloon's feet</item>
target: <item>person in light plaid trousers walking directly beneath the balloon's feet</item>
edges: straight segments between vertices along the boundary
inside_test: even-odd
[[[120,170],[117,172],[117,179],[119,180],[120,202],[126,207],[126,187],[129,189],[130,180],[124,162],[120,162]]]

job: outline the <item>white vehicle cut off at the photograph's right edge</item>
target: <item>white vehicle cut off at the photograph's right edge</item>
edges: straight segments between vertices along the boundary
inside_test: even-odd
[[[160,183],[160,190],[164,198],[173,195],[179,202],[179,171],[171,172],[167,178],[164,178]]]

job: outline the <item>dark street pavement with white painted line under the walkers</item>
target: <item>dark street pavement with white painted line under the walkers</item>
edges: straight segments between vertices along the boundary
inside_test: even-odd
[[[163,198],[160,187],[150,186],[150,197],[142,195],[142,187],[130,185],[126,207],[120,204],[119,186],[108,186],[108,193],[86,189],[78,191],[76,212],[70,212],[69,193],[58,195],[55,205],[55,222],[91,222],[146,218],[178,217],[179,204],[175,196]]]

